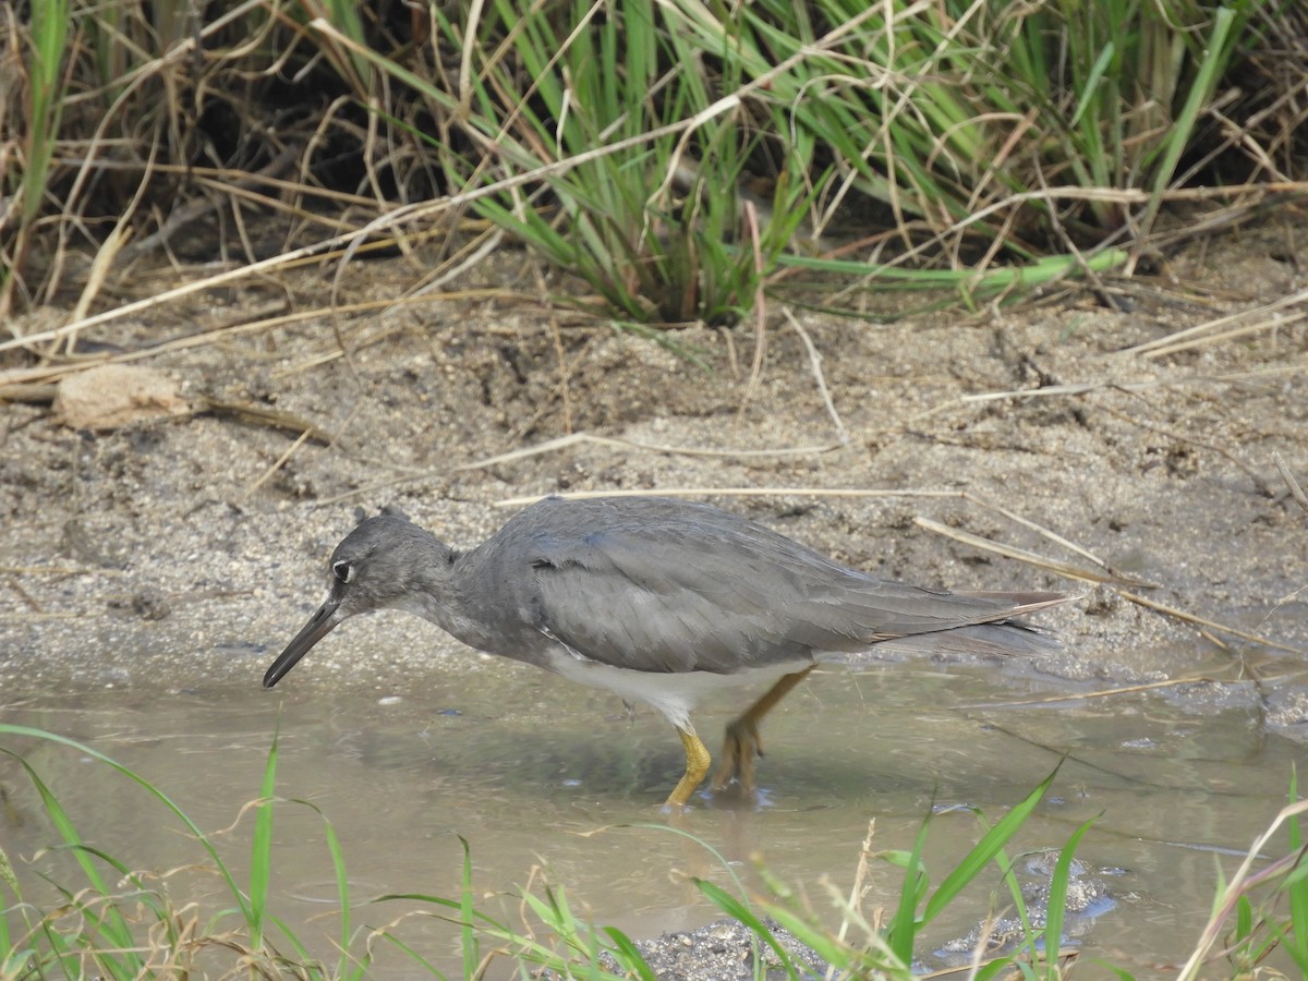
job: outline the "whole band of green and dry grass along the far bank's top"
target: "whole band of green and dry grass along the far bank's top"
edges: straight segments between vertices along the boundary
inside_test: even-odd
[[[288,262],[412,247],[413,222],[473,262],[447,221],[472,211],[579,277],[565,302],[732,323],[780,289],[974,302],[1130,268],[1168,201],[1303,175],[1308,59],[1284,52],[1308,13],[1275,0],[30,9],[8,24],[0,319],[89,303],[203,195],[237,232],[280,215]]]

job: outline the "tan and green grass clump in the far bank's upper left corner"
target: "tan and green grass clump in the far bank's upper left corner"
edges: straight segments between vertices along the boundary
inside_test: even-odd
[[[272,24],[258,4],[208,22],[179,3],[0,8],[0,196],[20,203],[0,207],[0,323],[16,334],[13,314],[69,289],[85,307],[115,262],[141,252],[133,232],[179,224],[207,167],[258,160],[216,160],[228,141],[207,127],[251,126],[259,72],[245,69],[255,51],[272,63],[259,46]],[[237,37],[245,47],[224,52]]]

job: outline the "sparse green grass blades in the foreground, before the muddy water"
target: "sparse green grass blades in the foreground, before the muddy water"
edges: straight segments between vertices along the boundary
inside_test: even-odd
[[[464,977],[483,976],[490,964],[502,965],[505,960],[517,965],[523,976],[547,968],[572,977],[653,977],[632,939],[613,927],[596,929],[579,921],[569,908],[561,886],[547,883],[540,895],[523,891],[521,901],[530,909],[534,927],[514,929],[502,918],[484,912],[476,901],[467,842],[463,846],[462,888],[456,899],[407,892],[361,901],[352,895],[345,870],[348,842],[336,837],[328,818],[309,802],[275,797],[276,739],[268,752],[259,798],[241,808],[242,818],[252,812],[254,827],[249,880],[239,882],[211,836],[162,790],[139,774],[98,749],[65,736],[26,726],[0,725],[0,738],[13,736],[44,740],[89,757],[115,770],[126,785],[144,791],[154,802],[156,811],[161,808],[170,823],[194,840],[199,852],[195,870],[221,882],[225,905],[201,909],[190,897],[170,895],[169,875],[132,870],[110,852],[89,845],[78,833],[75,816],[60,803],[56,789],[47,785],[21,756],[0,748],[21,764],[39,794],[50,831],[56,838],[50,850],[71,857],[71,867],[78,876],[76,883],[44,876],[60,899],[37,904],[26,899],[26,889],[20,882],[24,866],[16,867],[13,857],[0,850],[0,978],[86,977],[93,973],[111,978],[148,978],[181,977],[195,972],[362,978],[368,977],[370,967],[385,950],[402,957],[415,971],[439,976],[441,965],[430,960],[432,952],[404,939],[403,925],[412,917],[437,918],[458,929]],[[698,886],[723,913],[749,927],[765,959],[774,959],[790,977],[808,976],[807,969],[776,943],[765,920],[790,930],[842,976],[909,981],[922,931],[943,910],[957,904],[969,884],[1002,882],[1008,895],[993,897],[993,901],[997,905],[1011,904],[1022,923],[1022,935],[1006,950],[990,951],[978,977],[994,977],[1005,968],[1015,968],[1023,976],[1053,981],[1063,976],[1062,961],[1045,956],[1044,940],[1062,935],[1062,906],[1073,853],[1090,824],[1078,828],[1062,849],[1054,865],[1048,913],[1040,917],[1027,908],[1007,849],[1044,799],[1054,776],[1050,774],[993,824],[977,814],[981,825],[977,844],[934,888],[926,862],[930,820],[922,824],[912,849],[906,852],[872,855],[871,842],[866,841],[858,882],[870,858],[903,871],[893,910],[875,925],[862,909],[857,886],[849,899],[833,895],[833,909],[825,912],[815,912],[795,891],[774,882],[765,869],[761,871],[773,893],[769,897],[748,900],[743,897],[743,891],[735,895],[708,882],[698,882]],[[1230,883],[1219,884],[1211,921],[1201,934],[1185,977],[1197,977],[1199,968],[1206,968],[1206,976],[1213,976],[1211,971],[1219,961],[1213,960],[1211,948],[1218,938],[1224,938],[1222,956],[1231,976],[1252,971],[1274,950],[1284,951],[1301,971],[1308,971],[1308,862],[1299,827],[1308,802],[1295,800],[1294,783],[1290,795],[1292,803],[1254,842],[1237,875]],[[286,806],[307,807],[322,819],[326,854],[336,882],[335,946],[339,954],[334,963],[317,960],[305,938],[294,933],[269,900],[275,876],[273,820],[276,811]],[[1253,872],[1257,857],[1275,846],[1282,824],[1287,829],[1288,845],[1283,850],[1284,857]],[[998,879],[991,871],[994,866],[999,871]],[[365,923],[361,914],[369,912],[375,912],[386,923]],[[832,912],[841,920],[836,929],[829,926]]]

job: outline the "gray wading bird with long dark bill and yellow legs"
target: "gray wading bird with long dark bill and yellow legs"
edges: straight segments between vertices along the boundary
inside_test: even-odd
[[[891,645],[1022,653],[1050,646],[1014,617],[1061,593],[944,593],[876,579],[705,504],[568,501],[519,511],[459,552],[399,515],[358,525],[331,556],[331,593],[268,668],[272,688],[349,616],[405,610],[470,647],[608,688],[667,715],[685,747],[681,806],[709,769],[691,709],[770,683],[727,726],[714,785],[753,786],[759,722],[821,661]]]

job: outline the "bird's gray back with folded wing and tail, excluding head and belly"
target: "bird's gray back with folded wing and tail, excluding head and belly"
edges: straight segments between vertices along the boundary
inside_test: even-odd
[[[475,646],[547,664],[562,644],[649,672],[731,674],[905,637],[930,649],[944,632],[954,649],[1022,649],[1040,634],[1006,621],[1065,599],[878,579],[739,515],[662,497],[547,498],[459,561],[466,611],[497,640],[466,637]]]

